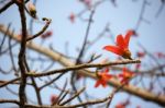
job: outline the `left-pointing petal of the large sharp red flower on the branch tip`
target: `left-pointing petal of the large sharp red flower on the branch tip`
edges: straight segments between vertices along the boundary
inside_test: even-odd
[[[123,50],[120,49],[119,47],[117,46],[105,46],[103,49],[108,50],[108,51],[111,51],[116,55],[119,55],[119,56],[122,56],[123,55]]]

